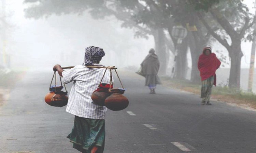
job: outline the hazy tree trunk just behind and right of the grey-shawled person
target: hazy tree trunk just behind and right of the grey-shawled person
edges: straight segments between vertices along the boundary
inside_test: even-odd
[[[155,39],[155,48],[156,54],[159,57],[160,61],[160,69],[159,75],[166,75],[167,69],[167,54],[166,54],[166,44],[165,44],[165,33],[163,29],[157,29],[154,32],[154,39]]]

